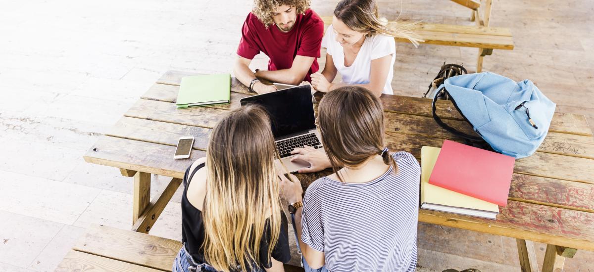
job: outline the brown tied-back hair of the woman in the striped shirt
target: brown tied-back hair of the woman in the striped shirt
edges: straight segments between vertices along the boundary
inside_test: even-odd
[[[345,86],[328,92],[318,106],[318,125],[324,151],[340,181],[340,167],[358,167],[374,155],[381,155],[398,172],[394,158],[383,152],[383,106],[366,88]]]

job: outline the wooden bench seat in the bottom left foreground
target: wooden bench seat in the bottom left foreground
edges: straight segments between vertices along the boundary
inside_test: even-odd
[[[131,230],[93,225],[72,246],[56,272],[171,271],[182,243]],[[303,271],[285,265],[285,271]]]

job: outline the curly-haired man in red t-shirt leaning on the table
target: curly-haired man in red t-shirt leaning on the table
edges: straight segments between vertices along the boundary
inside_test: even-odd
[[[276,90],[260,79],[298,85],[311,81],[318,71],[316,58],[324,35],[324,22],[309,9],[309,0],[254,0],[254,9],[242,27],[233,72],[256,93]],[[278,3],[278,5],[273,5]],[[258,53],[266,54],[268,71],[252,72],[249,64]]]

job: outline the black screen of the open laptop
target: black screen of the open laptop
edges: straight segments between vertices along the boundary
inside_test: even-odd
[[[241,105],[263,106],[270,116],[274,138],[315,129],[314,102],[309,85],[241,99]]]

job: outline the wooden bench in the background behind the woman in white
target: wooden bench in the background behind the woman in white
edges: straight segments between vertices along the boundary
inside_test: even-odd
[[[452,0],[454,1],[454,0]],[[422,43],[429,45],[448,45],[478,48],[478,59],[476,61],[476,72],[482,71],[483,58],[491,55],[493,49],[514,49],[511,31],[505,27],[489,27],[492,0],[486,0],[485,15],[481,18],[478,10],[480,2],[477,1],[454,1],[472,9],[472,18],[476,26],[457,26],[451,24],[430,24],[419,23],[415,26],[415,33],[424,40]],[[324,25],[327,27],[332,23],[332,16],[322,16]],[[394,22],[388,22],[394,26]],[[407,39],[394,38],[396,42],[409,42]]]

